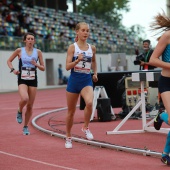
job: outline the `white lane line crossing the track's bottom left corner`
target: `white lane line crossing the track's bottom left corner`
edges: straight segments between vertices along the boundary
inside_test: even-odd
[[[24,160],[27,160],[27,161],[32,161],[32,162],[36,162],[36,163],[40,163],[40,164],[44,164],[44,165],[48,165],[48,166],[53,166],[53,167],[56,167],[56,168],[67,169],[67,170],[77,170],[77,169],[73,169],[73,168],[69,168],[69,167],[65,167],[65,166],[50,164],[50,163],[47,163],[47,162],[42,162],[42,161],[26,158],[26,157],[23,157],[23,156],[14,155],[14,154],[3,152],[3,151],[0,151],[0,153],[4,154],[4,155],[8,155],[8,156],[24,159]]]

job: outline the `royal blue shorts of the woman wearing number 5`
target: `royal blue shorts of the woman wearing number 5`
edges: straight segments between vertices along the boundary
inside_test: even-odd
[[[91,75],[88,75],[86,78],[77,78],[70,75],[67,83],[66,90],[70,93],[77,93],[79,94],[81,90],[86,86],[92,86],[93,82]]]

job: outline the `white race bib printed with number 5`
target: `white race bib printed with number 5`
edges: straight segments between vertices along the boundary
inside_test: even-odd
[[[74,67],[74,71],[79,72],[79,73],[89,74],[90,70],[91,70],[91,61],[88,62],[86,60],[88,60],[88,59],[85,58],[84,60],[82,60],[78,64],[76,64],[76,66]]]

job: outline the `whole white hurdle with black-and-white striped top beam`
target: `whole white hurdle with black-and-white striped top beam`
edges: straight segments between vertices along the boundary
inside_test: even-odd
[[[170,128],[161,128],[159,131],[156,131],[155,128],[151,125],[154,122],[154,119],[147,123],[146,121],[146,104],[145,104],[145,92],[144,92],[144,82],[145,81],[158,81],[160,77],[160,72],[138,72],[132,73],[132,81],[140,81],[141,87],[141,97],[138,103],[133,107],[133,109],[128,113],[128,115],[118,124],[118,126],[112,130],[107,131],[106,134],[128,134],[128,133],[143,133],[143,132],[159,132],[159,133],[168,133]],[[123,130],[119,129],[125,124],[125,122],[132,116],[132,114],[141,106],[142,110],[142,128],[140,130]]]

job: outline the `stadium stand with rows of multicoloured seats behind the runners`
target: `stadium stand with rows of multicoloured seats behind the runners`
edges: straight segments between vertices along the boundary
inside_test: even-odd
[[[55,9],[34,6],[22,6],[23,15],[29,14],[29,29],[36,33],[36,47],[45,52],[65,52],[69,44],[74,42],[74,26],[77,22],[85,21],[90,25],[88,42],[97,47],[98,53],[127,53],[134,54],[140,44],[134,37],[129,37],[120,30],[115,30],[101,19],[94,16]],[[0,27],[5,27],[7,36],[0,37],[0,49],[14,50],[21,47],[22,37],[14,36],[19,23],[9,23],[0,15]],[[21,27],[21,33],[28,31]]]

